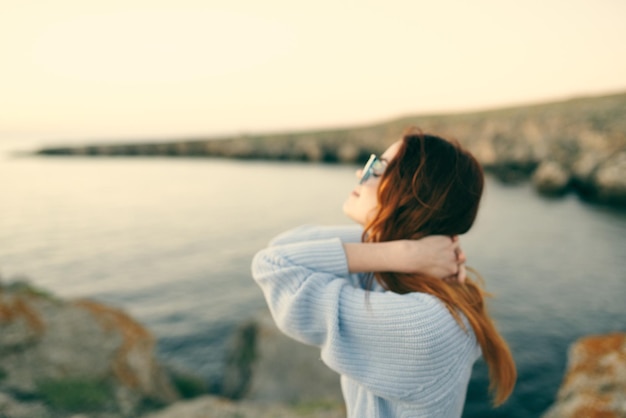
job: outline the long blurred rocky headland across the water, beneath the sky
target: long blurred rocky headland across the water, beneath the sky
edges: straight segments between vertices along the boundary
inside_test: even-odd
[[[458,140],[505,182],[530,180],[548,196],[626,207],[626,93],[482,112],[417,115],[368,126],[277,134],[103,141],[36,151],[45,156],[171,156],[362,163],[409,126]]]

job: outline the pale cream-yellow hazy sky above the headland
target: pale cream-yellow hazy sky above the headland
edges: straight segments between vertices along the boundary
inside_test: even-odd
[[[624,0],[0,4],[0,137],[332,128],[626,90]]]

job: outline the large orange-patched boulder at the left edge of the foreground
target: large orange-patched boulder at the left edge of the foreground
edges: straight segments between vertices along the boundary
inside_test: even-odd
[[[25,283],[0,285],[0,392],[71,411],[132,414],[178,399],[154,338],[127,314],[62,301]]]

